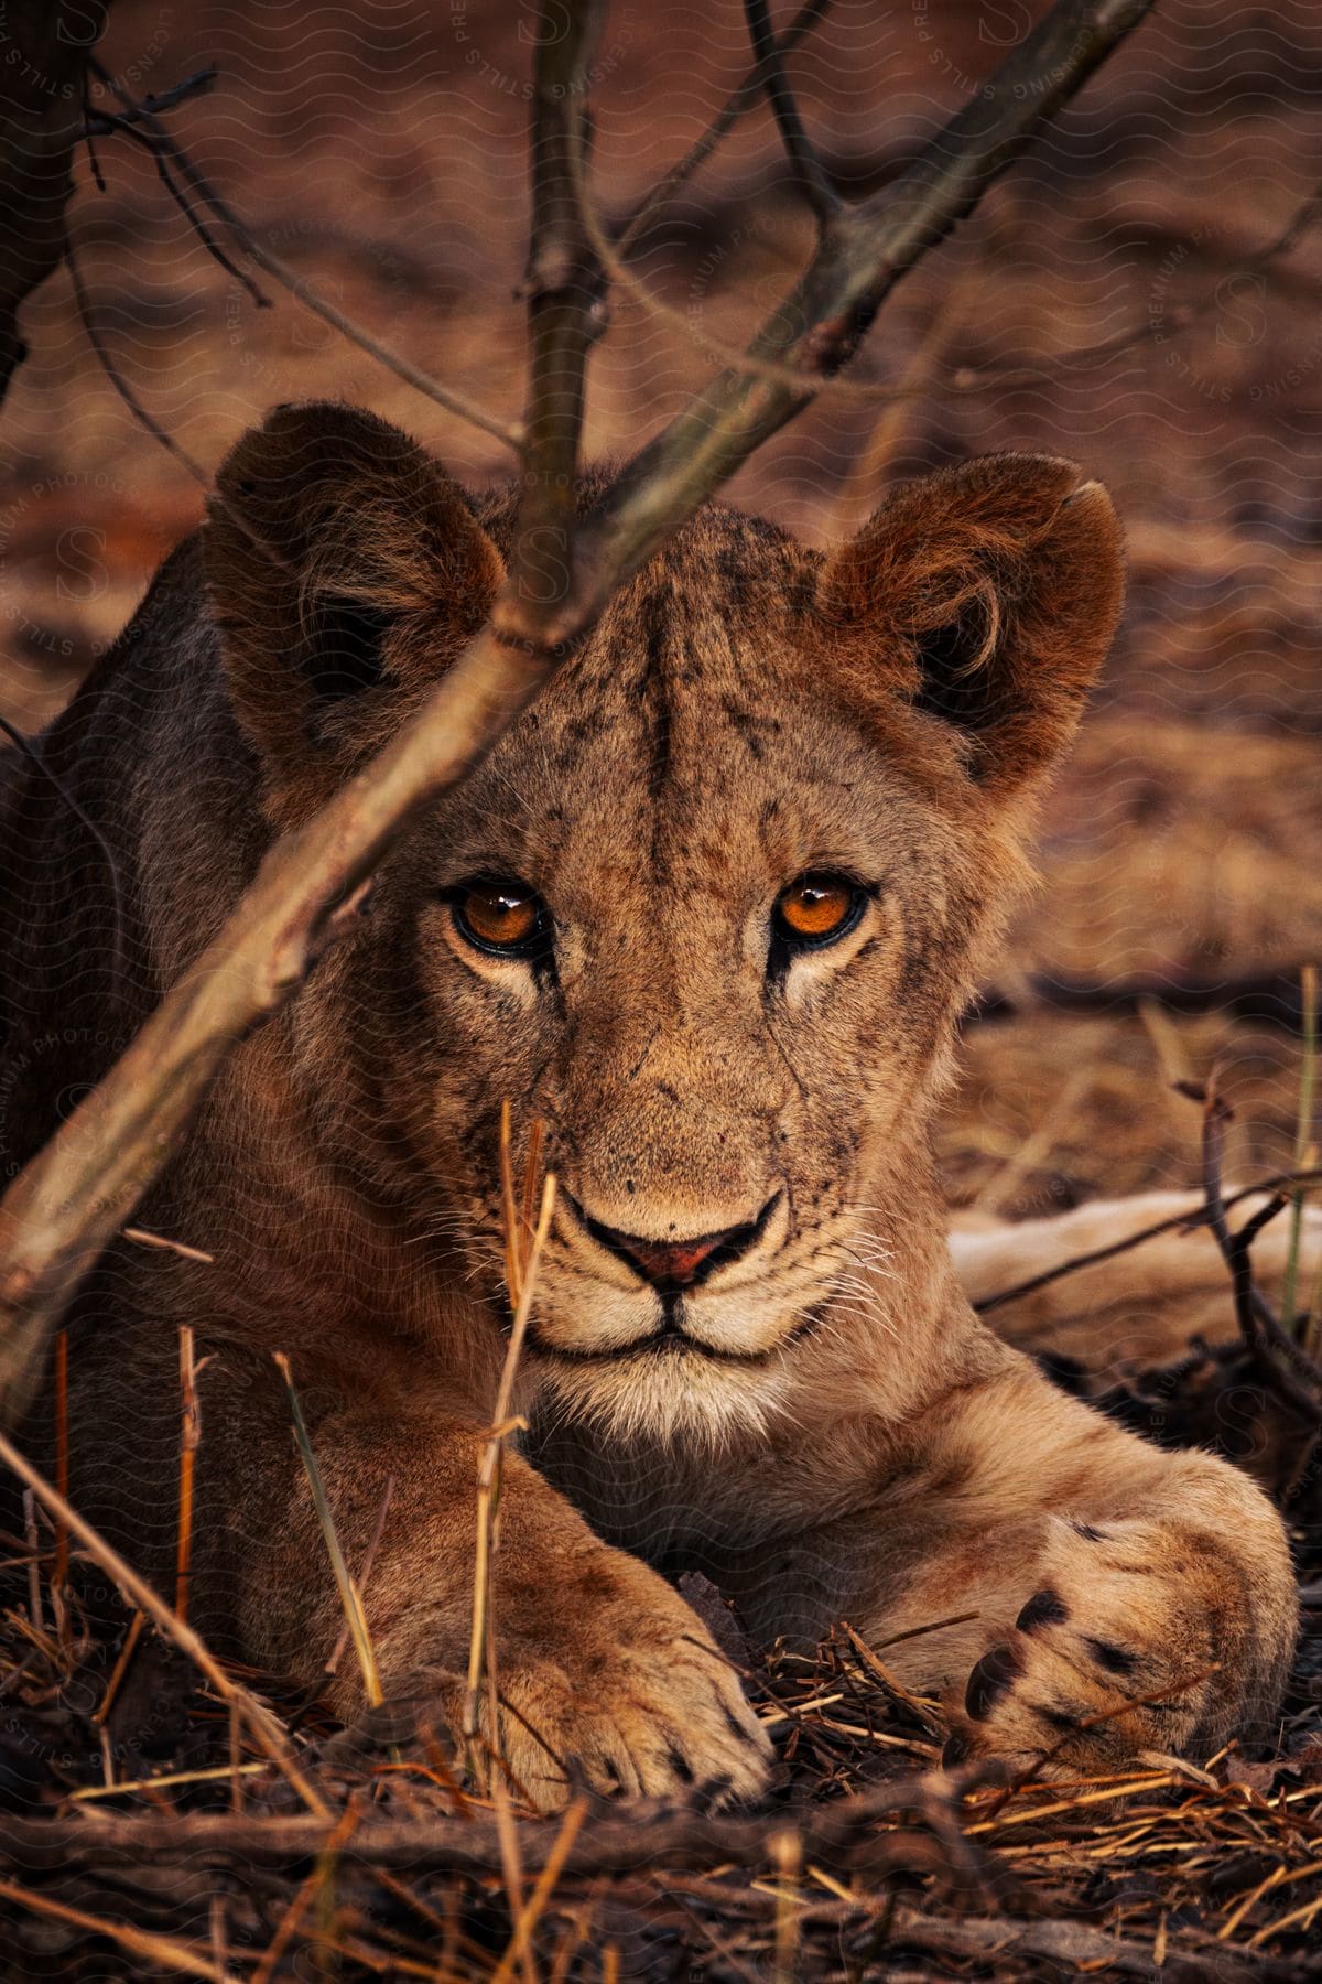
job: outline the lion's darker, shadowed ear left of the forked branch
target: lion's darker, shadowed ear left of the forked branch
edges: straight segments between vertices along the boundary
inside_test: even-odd
[[[503,577],[464,492],[353,407],[275,407],[216,476],[206,581],[275,813],[343,778],[359,710],[438,677]],[[359,700],[355,700],[359,698]],[[349,704],[353,702],[353,708]]]

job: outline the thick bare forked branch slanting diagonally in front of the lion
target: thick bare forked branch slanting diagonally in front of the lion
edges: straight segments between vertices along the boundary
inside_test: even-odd
[[[28,1397],[50,1327],[168,1163],[216,1069],[293,994],[321,946],[353,915],[383,855],[424,806],[486,758],[618,585],[848,361],[900,276],[973,206],[1150,4],[1058,0],[886,198],[830,218],[811,268],[751,347],[755,357],[801,365],[803,383],[721,373],[636,456],[577,538],[569,498],[601,294],[577,173],[601,8],[589,0],[543,6],[529,258],[533,381],[521,548],[509,579],[492,621],[412,722],[319,815],[272,849],[220,936],[6,1194],[0,1397],[8,1411]],[[551,599],[525,583],[537,530],[559,532],[565,548],[563,585]]]

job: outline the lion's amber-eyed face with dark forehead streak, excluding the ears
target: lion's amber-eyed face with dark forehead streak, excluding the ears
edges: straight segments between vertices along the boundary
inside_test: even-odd
[[[696,542],[694,542],[696,540]],[[973,849],[690,534],[392,877],[428,1169],[503,1254],[501,1097],[559,1194],[533,1345],[577,1393],[702,1383],[821,1319],[963,984]],[[716,587],[721,587],[717,593]],[[716,607],[716,611],[714,611]],[[424,1067],[418,1065],[424,1057]],[[614,1371],[610,1367],[616,1367]]]

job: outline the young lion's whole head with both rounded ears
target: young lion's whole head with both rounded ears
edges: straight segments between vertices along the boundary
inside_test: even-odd
[[[208,581],[274,823],[454,659],[509,512],[345,409],[240,442]],[[515,1149],[545,1121],[531,1343],[577,1411],[755,1411],[886,1244],[1120,587],[1060,460],[898,488],[834,554],[708,506],[383,869],[315,1006],[355,1155],[501,1300],[501,1099]]]

